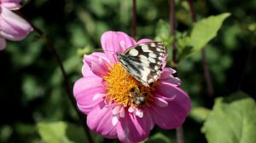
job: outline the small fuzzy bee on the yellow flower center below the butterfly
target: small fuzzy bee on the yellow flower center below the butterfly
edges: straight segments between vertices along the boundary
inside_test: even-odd
[[[134,105],[144,106],[147,103],[147,95],[146,92],[141,92],[138,88],[131,88],[128,97],[131,98]]]

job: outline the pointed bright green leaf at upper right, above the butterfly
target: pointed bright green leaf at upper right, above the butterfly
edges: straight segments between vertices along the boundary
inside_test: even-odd
[[[200,51],[213,37],[216,37],[220,26],[229,16],[229,13],[218,14],[196,22],[190,35],[192,53]]]

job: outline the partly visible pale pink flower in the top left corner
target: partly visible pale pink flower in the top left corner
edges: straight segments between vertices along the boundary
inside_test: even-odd
[[[20,0],[0,0],[0,50],[6,46],[6,41],[20,41],[32,31],[32,26],[26,20],[10,10],[20,9]]]

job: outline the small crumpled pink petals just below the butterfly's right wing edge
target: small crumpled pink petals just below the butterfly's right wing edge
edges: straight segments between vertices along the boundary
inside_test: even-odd
[[[172,68],[165,68],[160,75],[160,82],[172,83],[173,85],[180,85],[181,81],[178,77],[173,77],[172,74],[175,73],[175,70]]]

